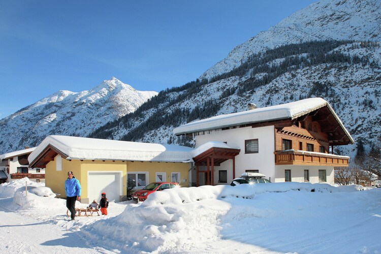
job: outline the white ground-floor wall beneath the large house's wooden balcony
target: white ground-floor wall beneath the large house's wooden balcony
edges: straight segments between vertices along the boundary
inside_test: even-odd
[[[275,179],[274,182],[284,182],[284,170],[291,170],[291,181],[292,182],[304,182],[304,170],[308,170],[309,182],[319,183],[319,170],[326,170],[327,182],[328,184],[334,184],[334,168],[333,167],[323,167],[323,166],[297,166],[297,165],[280,165],[275,166]]]

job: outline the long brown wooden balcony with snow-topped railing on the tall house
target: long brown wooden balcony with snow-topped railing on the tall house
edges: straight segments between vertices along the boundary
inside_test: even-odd
[[[348,167],[350,157],[330,153],[307,152],[300,150],[276,151],[275,165],[310,165]]]

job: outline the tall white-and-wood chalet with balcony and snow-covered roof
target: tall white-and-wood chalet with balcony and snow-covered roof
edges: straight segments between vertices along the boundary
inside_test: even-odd
[[[265,174],[272,182],[334,184],[334,167],[347,167],[350,158],[329,151],[354,143],[321,98],[219,115],[179,126],[174,133],[192,137],[196,148],[212,141],[230,147],[225,154],[210,150],[193,158],[197,186],[229,184],[245,172]]]

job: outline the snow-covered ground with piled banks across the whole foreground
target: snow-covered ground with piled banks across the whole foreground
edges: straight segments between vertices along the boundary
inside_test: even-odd
[[[66,201],[40,186],[0,185],[1,253],[381,253],[381,188],[178,188],[71,221]]]

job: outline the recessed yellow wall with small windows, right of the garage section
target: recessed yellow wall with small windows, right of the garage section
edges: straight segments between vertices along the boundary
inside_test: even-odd
[[[166,182],[171,182],[171,173],[180,172],[180,185],[188,186],[189,163],[166,163],[166,162],[127,162],[127,173],[129,172],[148,172],[148,181],[155,182],[156,172],[166,173]],[[183,181],[185,179],[185,181]]]

